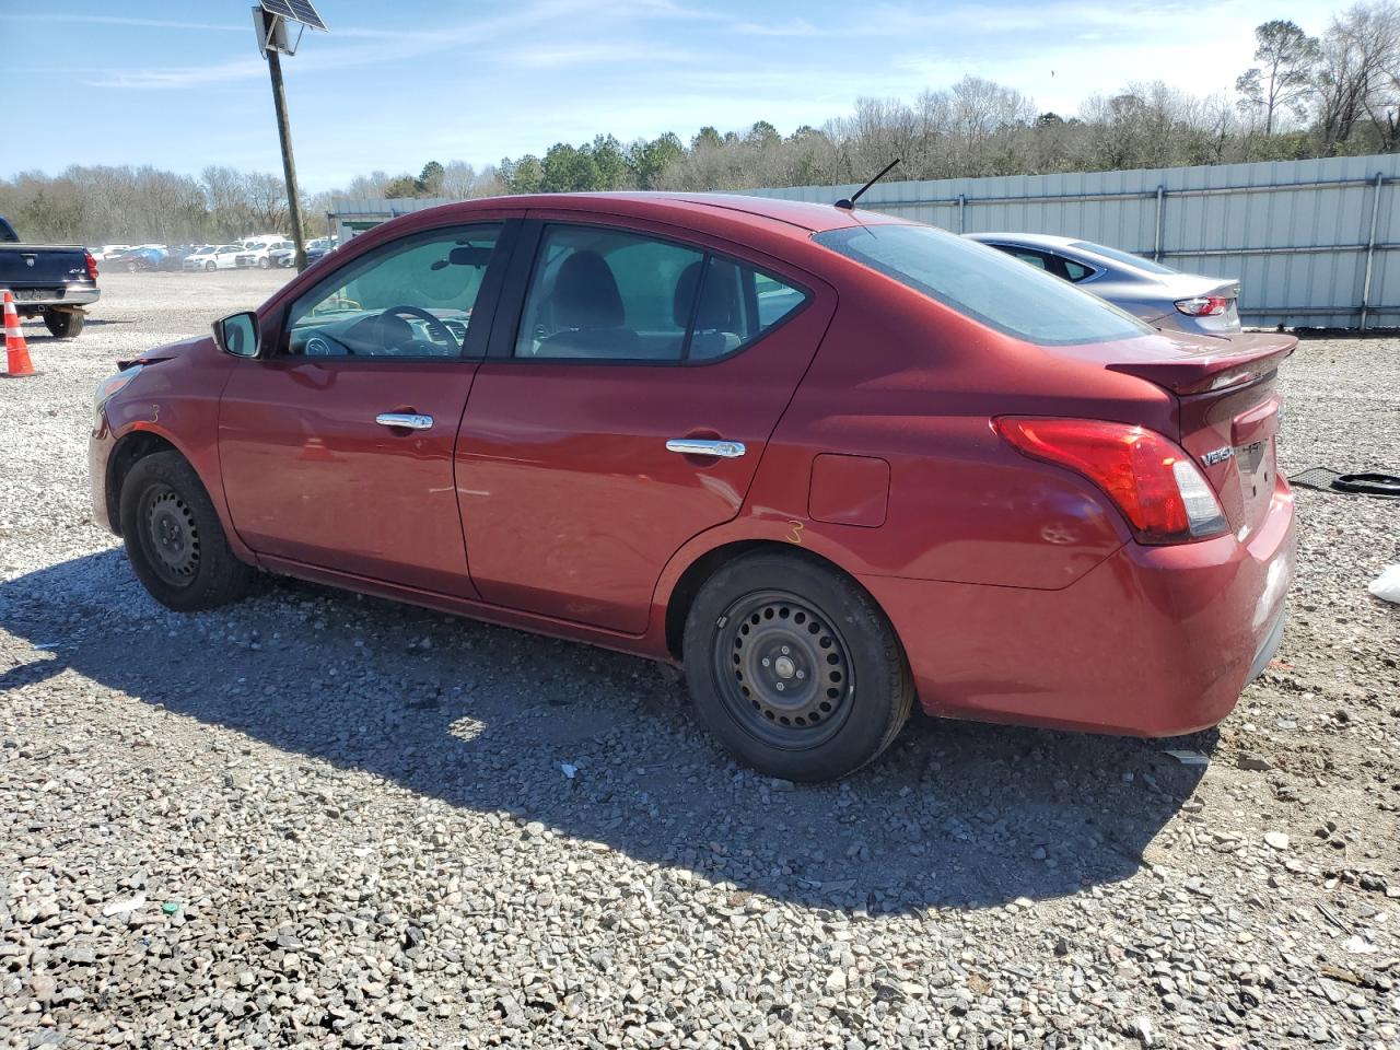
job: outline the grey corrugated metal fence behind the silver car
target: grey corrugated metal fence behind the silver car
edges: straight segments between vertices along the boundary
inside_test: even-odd
[[[874,172],[872,172],[874,174]],[[1081,237],[1239,277],[1246,325],[1400,325],[1400,154],[876,183],[860,207],[956,232]],[[834,202],[858,186],[749,190]]]

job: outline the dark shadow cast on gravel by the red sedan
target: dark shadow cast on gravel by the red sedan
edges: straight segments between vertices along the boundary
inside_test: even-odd
[[[0,696],[91,689],[76,672],[125,694],[98,704],[157,706],[466,816],[808,906],[981,909],[1130,878],[1204,771],[1162,749],[1215,741],[916,717],[846,783],[791,785],[729,762],[647,661],[295,581],[179,616],[120,550],[0,582],[0,626],[45,647],[0,664]]]

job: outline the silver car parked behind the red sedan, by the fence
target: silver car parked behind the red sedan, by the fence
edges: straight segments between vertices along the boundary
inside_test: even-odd
[[[1092,291],[1154,328],[1239,332],[1239,281],[1201,277],[1092,241],[1046,234],[967,234]]]

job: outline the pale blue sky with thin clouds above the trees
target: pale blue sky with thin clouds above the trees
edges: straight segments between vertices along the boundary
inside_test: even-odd
[[[1301,0],[316,0],[329,35],[284,60],[302,186],[375,168],[498,161],[612,132],[623,141],[766,119],[788,133],[860,95],[911,101],[965,74],[1072,113],[1162,78],[1226,91],[1253,27],[1320,32]],[[280,171],[251,0],[0,0],[0,175],[69,164]],[[1338,0],[1340,6],[1340,0]],[[49,113],[48,120],[38,115]],[[49,126],[62,127],[52,133]]]

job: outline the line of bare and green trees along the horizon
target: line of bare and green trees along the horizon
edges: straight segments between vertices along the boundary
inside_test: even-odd
[[[543,155],[475,168],[428,161],[302,202],[308,235],[336,197],[449,197],[578,190],[735,190],[864,182],[892,158],[897,178],[977,178],[1392,153],[1400,148],[1400,1],[1362,0],[1320,36],[1289,21],[1254,31],[1254,64],[1232,97],[1162,81],[1095,94],[1072,115],[1037,111],[1012,87],[963,77],[913,102],[861,98],[847,116],[783,134],[767,120],[622,143],[598,134]],[[0,179],[0,214],[34,241],[213,242],[286,230],[280,175],[206,168],[74,165]]]

